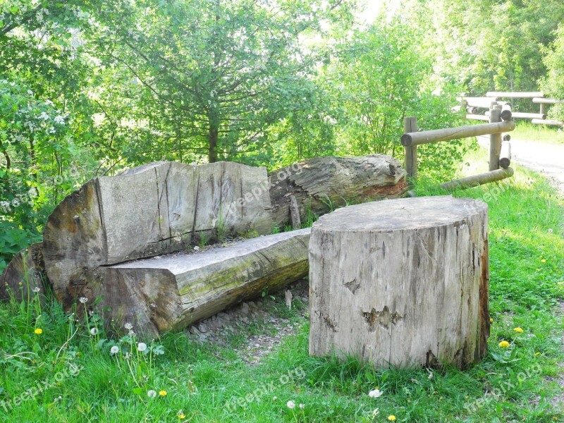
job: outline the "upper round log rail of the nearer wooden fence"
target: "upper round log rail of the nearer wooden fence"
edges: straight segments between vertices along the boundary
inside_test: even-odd
[[[509,132],[514,129],[515,122],[508,121],[458,126],[457,128],[424,130],[417,133],[403,134],[401,136],[401,143],[405,147],[409,147],[411,145],[428,144],[429,142],[460,140],[462,138],[477,137],[479,135]]]

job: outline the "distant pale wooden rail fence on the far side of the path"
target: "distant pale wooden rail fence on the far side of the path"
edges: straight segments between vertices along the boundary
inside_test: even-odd
[[[546,99],[543,92],[502,92],[491,91],[486,92],[486,97],[458,97],[460,106],[457,109],[466,109],[466,118],[476,121],[489,121],[489,109],[491,102],[498,104],[507,104],[509,102],[501,102],[501,99],[531,99],[533,104],[539,104],[539,112],[525,113],[513,112],[513,118],[529,119],[535,125],[556,125],[564,126],[564,122],[546,119],[546,106],[548,104],[564,103],[564,100]]]

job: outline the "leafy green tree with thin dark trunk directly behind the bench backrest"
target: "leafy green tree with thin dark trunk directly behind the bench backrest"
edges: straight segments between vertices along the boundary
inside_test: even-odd
[[[336,1],[171,0],[106,13],[98,56],[145,87],[137,123],[210,162],[264,147],[272,125],[312,97],[319,57],[300,36],[338,18]],[[158,109],[158,118],[152,112]]]

